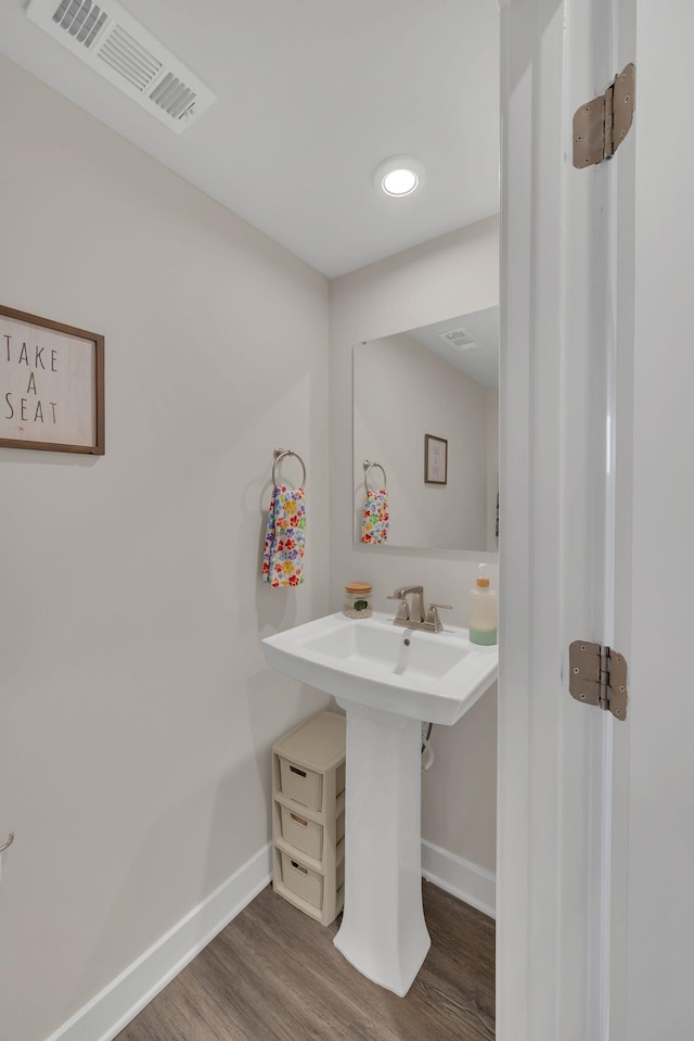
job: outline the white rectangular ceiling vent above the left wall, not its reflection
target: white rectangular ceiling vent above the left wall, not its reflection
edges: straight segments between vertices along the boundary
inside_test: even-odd
[[[176,134],[217,97],[116,0],[30,0],[26,13]]]

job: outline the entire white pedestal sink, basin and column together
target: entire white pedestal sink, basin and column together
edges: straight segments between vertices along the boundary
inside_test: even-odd
[[[335,945],[403,996],[429,948],[422,910],[422,721],[455,723],[493,683],[497,647],[374,614],[331,614],[262,640],[268,664],[347,713],[345,910]]]

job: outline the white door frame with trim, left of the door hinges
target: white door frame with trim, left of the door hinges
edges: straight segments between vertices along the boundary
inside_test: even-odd
[[[615,1019],[625,724],[570,698],[567,658],[614,638],[617,164],[575,170],[570,135],[617,71],[617,2],[501,3],[498,1041]]]

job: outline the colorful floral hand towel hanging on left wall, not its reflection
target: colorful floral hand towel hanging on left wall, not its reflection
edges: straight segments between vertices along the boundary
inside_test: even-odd
[[[272,492],[262,551],[262,581],[269,582],[274,589],[304,582],[304,488],[288,491],[283,484]]]

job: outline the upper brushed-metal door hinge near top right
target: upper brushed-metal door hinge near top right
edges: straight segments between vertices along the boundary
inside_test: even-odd
[[[618,73],[604,94],[574,113],[574,166],[612,158],[633,120],[637,71],[633,62]]]

